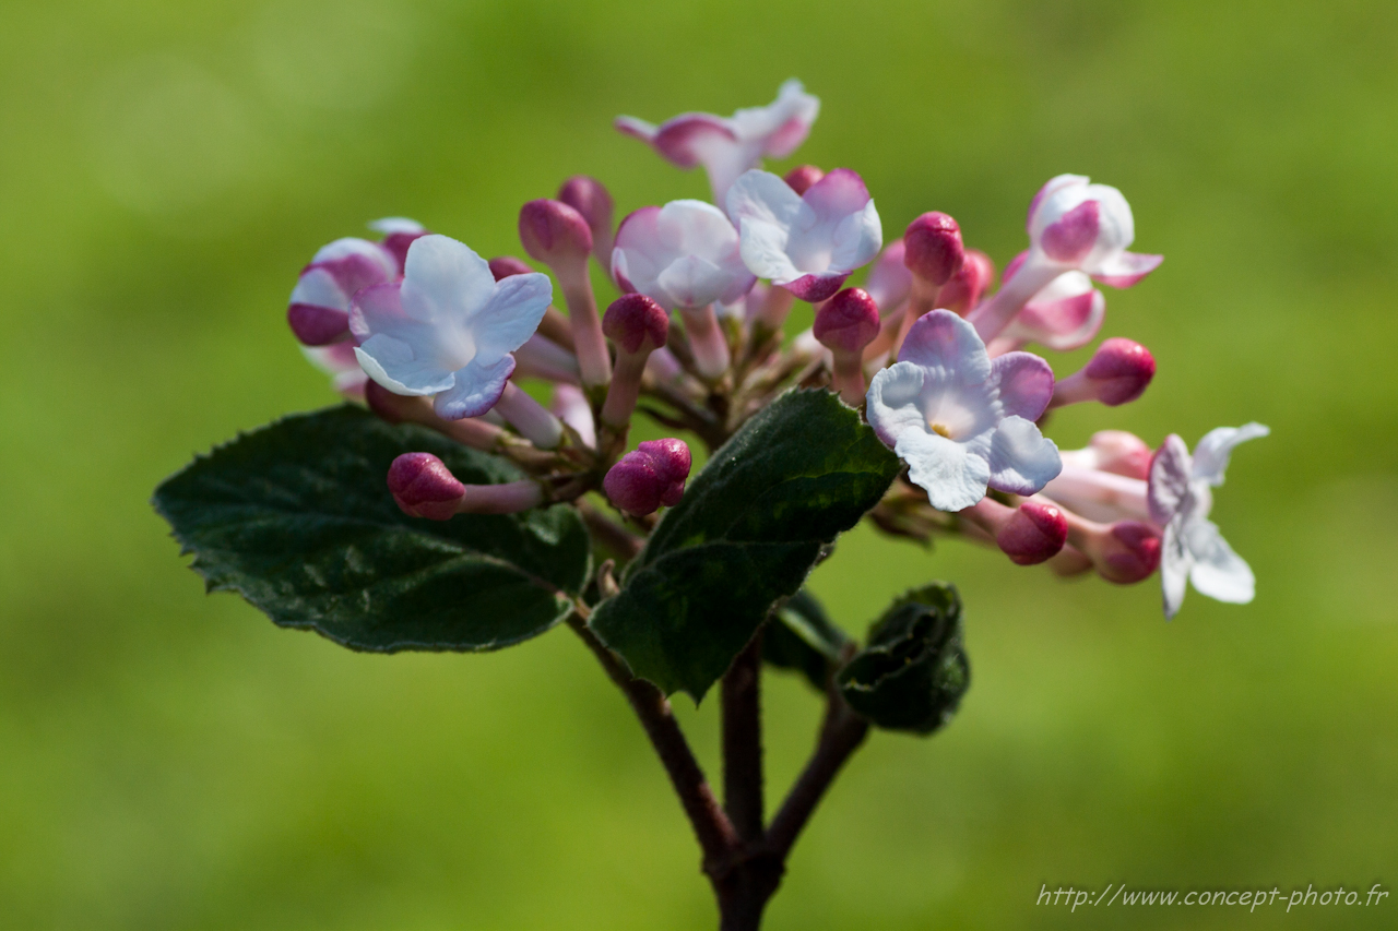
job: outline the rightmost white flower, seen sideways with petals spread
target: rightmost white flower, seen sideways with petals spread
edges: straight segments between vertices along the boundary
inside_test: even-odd
[[[1199,440],[1192,457],[1184,440],[1172,433],[1156,452],[1148,500],[1151,520],[1165,528],[1160,587],[1166,618],[1179,614],[1186,580],[1218,601],[1253,600],[1253,570],[1208,517],[1213,507],[1212,488],[1223,484],[1233,447],[1268,432],[1261,424],[1220,426]]]

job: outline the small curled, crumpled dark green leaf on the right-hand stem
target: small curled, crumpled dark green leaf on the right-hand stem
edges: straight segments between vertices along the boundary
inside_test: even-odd
[[[970,685],[956,589],[934,583],[896,600],[836,682],[878,727],[931,734],[946,724]]]

